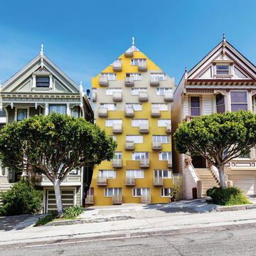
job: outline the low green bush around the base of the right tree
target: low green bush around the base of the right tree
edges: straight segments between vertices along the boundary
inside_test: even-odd
[[[216,203],[220,206],[235,206],[250,204],[246,196],[240,188],[210,188],[206,191],[206,195],[212,198],[211,203]]]

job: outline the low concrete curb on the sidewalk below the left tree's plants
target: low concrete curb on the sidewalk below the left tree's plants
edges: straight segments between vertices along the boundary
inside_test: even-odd
[[[129,220],[133,219],[132,216],[115,216],[110,218],[92,218],[92,219],[75,219],[75,220],[56,220],[50,223],[47,223],[46,225],[43,225],[43,227],[47,226],[57,226],[57,225],[73,225],[73,224],[85,224],[85,223],[101,223],[101,222],[107,222],[107,221],[115,221],[115,220]]]

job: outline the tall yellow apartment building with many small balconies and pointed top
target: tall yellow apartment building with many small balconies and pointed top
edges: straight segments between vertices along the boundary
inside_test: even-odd
[[[95,122],[118,146],[95,166],[86,203],[166,203],[173,182],[169,78],[136,46],[92,78]]]

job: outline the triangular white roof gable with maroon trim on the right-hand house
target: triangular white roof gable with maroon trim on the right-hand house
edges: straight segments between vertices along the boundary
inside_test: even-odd
[[[225,71],[216,73],[216,65],[218,65],[218,68],[225,68],[227,65],[232,68],[230,68],[228,75],[223,75]],[[225,41],[224,36],[223,41],[188,72],[187,78],[188,80],[256,80],[256,67],[230,43]]]

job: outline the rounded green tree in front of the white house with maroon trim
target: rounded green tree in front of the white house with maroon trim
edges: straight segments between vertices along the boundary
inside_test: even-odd
[[[180,154],[201,155],[216,166],[220,187],[226,188],[224,166],[256,144],[256,117],[250,111],[225,112],[183,121],[174,134]]]

